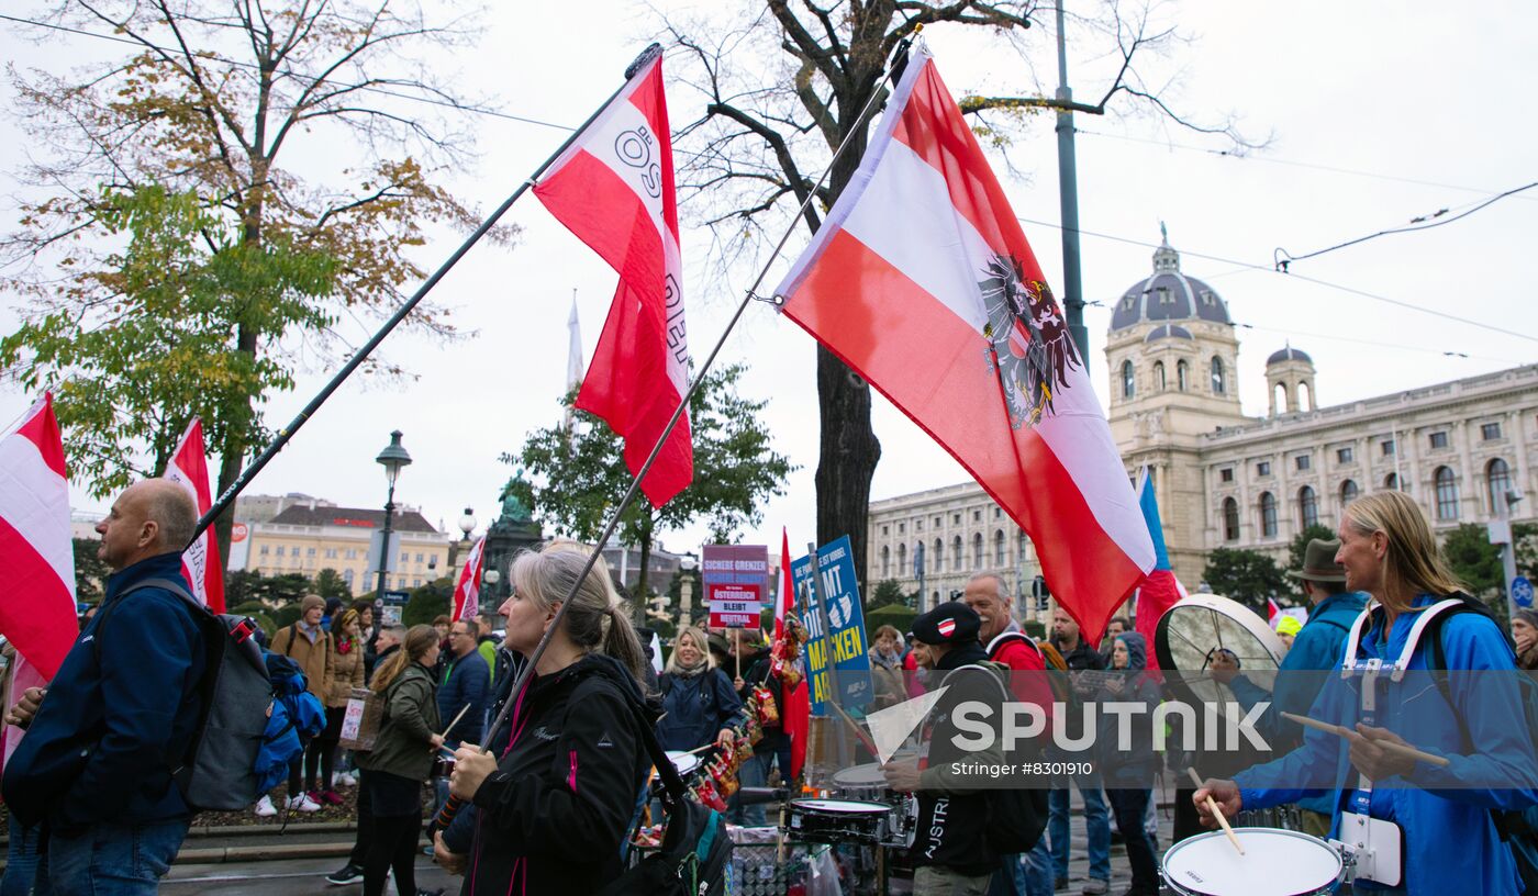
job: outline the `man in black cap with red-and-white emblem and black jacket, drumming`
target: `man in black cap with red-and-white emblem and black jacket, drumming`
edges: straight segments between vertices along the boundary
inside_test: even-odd
[[[986,781],[966,768],[998,767],[1004,761],[998,738],[998,712],[992,713],[992,736],[980,750],[967,750],[957,713],[963,704],[981,701],[998,707],[1003,681],[986,665],[978,641],[978,615],[960,601],[947,601],[914,619],[914,638],[927,645],[929,662],[944,675],[937,687],[946,692],[929,713],[926,761],[889,762],[887,785],[918,795],[918,835],[909,856],[914,862],[914,894],[983,896],[998,870],[1001,855],[990,844]]]

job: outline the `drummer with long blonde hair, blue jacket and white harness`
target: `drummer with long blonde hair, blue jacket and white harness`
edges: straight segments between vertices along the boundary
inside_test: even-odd
[[[1398,862],[1375,859],[1366,873],[1358,865],[1358,890],[1515,896],[1516,864],[1492,811],[1538,804],[1538,759],[1506,636],[1476,612],[1407,495],[1353,501],[1340,539],[1346,587],[1373,599],[1346,639],[1341,675],[1309,715],[1347,725],[1346,733],[1310,728],[1281,759],[1235,781],[1207,781],[1197,810],[1217,827],[1209,795],[1233,816],[1333,793],[1332,836],[1355,842],[1369,831],[1372,842],[1403,844]],[[1446,684],[1427,675],[1432,653],[1440,669],[1456,670]],[[1412,732],[1415,748],[1444,762],[1407,755],[1397,732]]]

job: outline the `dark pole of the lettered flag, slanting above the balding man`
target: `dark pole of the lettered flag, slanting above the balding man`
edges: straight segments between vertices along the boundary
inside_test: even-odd
[[[643,49],[641,55],[635,57],[635,61],[632,61],[624,69],[624,77],[626,77],[624,83],[620,85],[614,91],[614,94],[609,95],[608,100],[600,103],[598,108],[594,111],[594,114],[589,115],[588,120],[583,121],[580,128],[572,131],[571,137],[568,137],[566,141],[561,143],[560,148],[555,152],[552,152],[549,158],[541,161],[540,166],[534,169],[534,174],[531,174],[523,183],[520,183],[518,189],[515,189],[512,195],[506,198],[506,201],[497,206],[497,211],[494,211],[484,221],[481,221],[478,227],[475,227],[475,232],[472,232],[460,244],[460,247],[455,249],[452,255],[449,255],[448,261],[438,266],[438,269],[432,272],[432,277],[429,277],[417,289],[417,292],[414,292],[412,297],[408,298],[406,303],[401,304],[395,310],[395,314],[391,315],[388,321],[384,321],[384,326],[381,326],[378,332],[375,332],[374,337],[368,343],[365,343],[363,347],[358,349],[355,355],[352,355],[352,360],[348,361],[348,364],[341,367],[341,370],[338,370],[335,377],[331,378],[331,383],[326,383],[326,386],[314,398],[311,398],[309,404],[306,404],[305,409],[300,410],[298,415],[292,421],[289,421],[286,427],[278,430],[278,436],[272,440],[272,444],[269,444],[266,450],[263,450],[254,461],[251,461],[251,464],[246,469],[240,472],[238,476],[235,476],[235,481],[231,483],[228,489],[225,489],[225,492],[218,496],[217,501],[214,501],[214,506],[208,509],[208,513],[203,513],[203,516],[197,521],[197,530],[192,533],[192,541],[197,541],[198,536],[203,535],[203,530],[214,524],[214,519],[217,519],[218,515],[225,512],[225,507],[228,507],[231,501],[234,501],[235,496],[240,495],[240,492],[243,492],[245,487],[251,484],[251,480],[255,478],[255,475],[260,473],[261,469],[266,467],[268,463],[272,458],[275,458],[280,450],[283,450],[283,446],[286,446],[288,441],[294,438],[294,433],[297,433],[298,429],[305,426],[305,423],[309,421],[309,418],[314,416],[317,410],[320,410],[320,406],[325,404],[328,398],[331,398],[331,393],[335,392],[337,387],[341,386],[341,383],[348,377],[351,377],[352,372],[357,370],[360,364],[363,364],[363,361],[368,360],[369,353],[372,353],[374,349],[377,349],[378,344],[384,341],[384,337],[388,337],[400,324],[400,321],[406,320],[406,317],[417,307],[417,304],[421,303],[421,300],[426,298],[429,292],[432,292],[432,287],[435,287],[438,281],[443,280],[443,277],[455,264],[458,264],[460,258],[463,258],[464,254],[469,252],[472,246],[475,246],[475,243],[480,243],[481,237],[484,237],[492,227],[497,226],[497,221],[501,220],[504,214],[508,214],[508,209],[511,209],[514,203],[523,198],[523,194],[528,192],[531,186],[538,183],[540,175],[543,175],[552,164],[555,164],[555,160],[560,158],[561,154],[564,154],[566,149],[569,149],[571,144],[575,143],[578,137],[581,137],[583,131],[586,131],[588,126],[592,124],[598,118],[598,115],[601,115],[603,111],[609,108],[611,103],[614,103],[614,100],[620,95],[620,92],[624,91],[626,85],[631,83],[632,74],[640,66],[646,65],[646,61],[649,61],[652,55],[660,52],[661,52],[661,45],[654,43],[646,49]]]

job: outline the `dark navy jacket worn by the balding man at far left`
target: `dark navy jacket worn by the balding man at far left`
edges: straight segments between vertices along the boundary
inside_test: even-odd
[[[20,821],[55,831],[95,822],[188,818],[171,770],[197,727],[205,644],[192,607],[146,587],[181,575],[181,555],[161,553],[114,573],[54,676],[26,738],[5,764],[5,799]]]

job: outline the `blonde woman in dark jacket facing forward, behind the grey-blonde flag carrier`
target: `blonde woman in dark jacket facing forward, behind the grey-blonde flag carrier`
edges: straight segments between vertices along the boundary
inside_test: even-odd
[[[697,626],[678,633],[658,687],[663,718],[657,721],[657,739],[663,750],[692,752],[711,742],[723,750],[732,747],[732,725],[741,721],[743,701],[711,662],[704,632]]]

